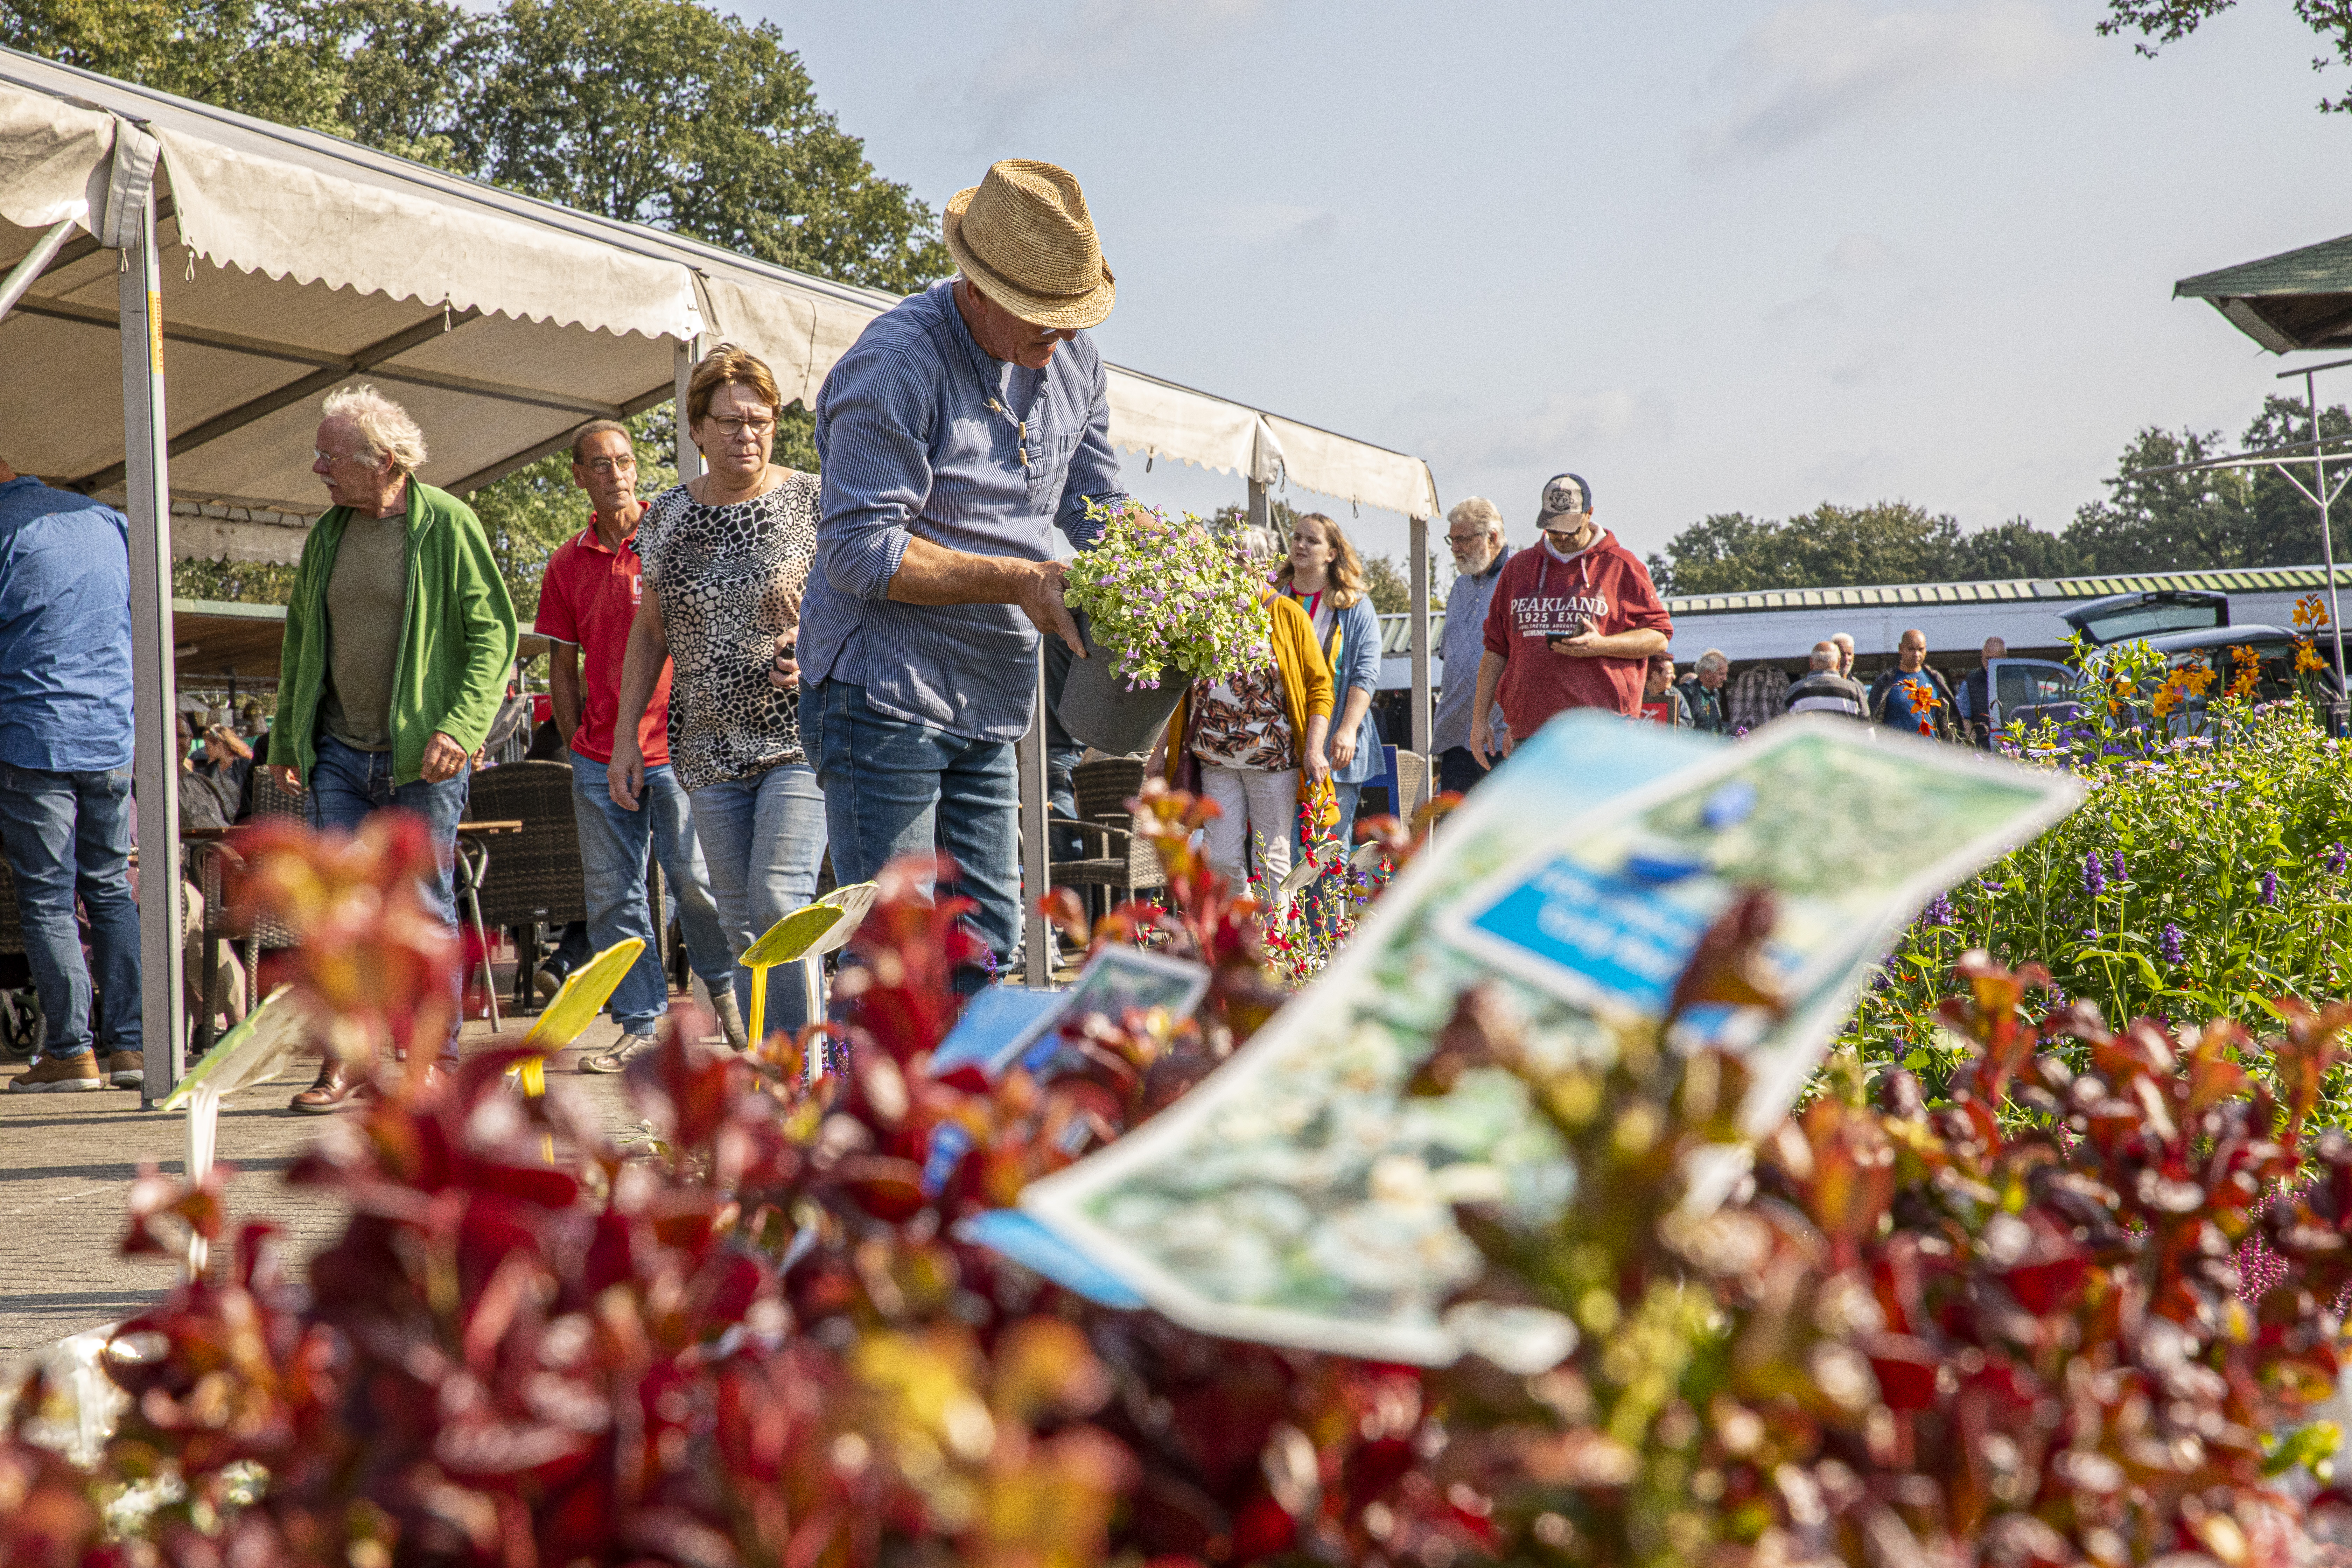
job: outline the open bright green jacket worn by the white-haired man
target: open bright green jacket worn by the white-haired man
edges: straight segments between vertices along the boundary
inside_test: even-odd
[[[327,691],[327,578],[350,508],[334,505],[310,529],[287,602],[278,665],[278,722],[268,759],[310,783],[318,705]],[[423,778],[426,741],[440,731],[482,750],[515,663],[515,602],[473,508],[409,475],[409,583],[393,665],[393,783]]]

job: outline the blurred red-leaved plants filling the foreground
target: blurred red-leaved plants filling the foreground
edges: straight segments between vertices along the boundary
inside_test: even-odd
[[[1936,1107],[1900,1070],[1879,1107],[1823,1095],[1686,1211],[1738,1143],[1738,1063],[1623,1032],[1611,1065],[1562,1067],[1472,987],[1416,1093],[1512,1074],[1576,1164],[1548,1225],[1461,1211],[1489,1258],[1472,1295],[1576,1324],[1531,1378],[1209,1340],[960,1241],[1282,1001],[1254,907],[1190,849],[1202,802],[1148,809],[1174,912],[1061,919],[1200,959],[1209,999],[1171,1032],[1082,1020],[1054,1077],[931,1072],[976,950],[901,867],[844,980],[844,1077],[804,1086],[786,1037],[736,1058],[677,1030],[630,1070],[656,1138],[619,1150],[560,1093],[515,1095],[517,1051],[452,1084],[388,1070],[287,1173],[353,1204],[308,1293],[266,1225],[226,1220],[226,1168],[143,1180],[132,1246],[235,1246],[125,1326],[132,1410],[99,1472],[0,1439],[0,1561],[2284,1568],[2331,1521],[2333,1493],[2307,1512],[2277,1476],[2333,1448],[2310,1406],[2338,1373],[2352,1145],[2310,1128],[2345,1011],[2286,1009],[2260,1046],[2110,1032],[1969,957]],[[407,849],[259,856],[259,896],[306,929],[296,985],[346,1034],[437,1027],[397,1009],[449,961]],[[1677,997],[1752,985],[1766,933],[1740,905]],[[2277,1274],[2253,1307],[2246,1234]],[[148,1512],[111,1537],[132,1483]]]

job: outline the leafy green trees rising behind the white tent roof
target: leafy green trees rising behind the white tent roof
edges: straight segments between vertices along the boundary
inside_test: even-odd
[[[950,268],[938,219],[818,106],[783,35],[694,0],[0,0],[0,38],[842,282],[913,292]],[[640,463],[673,449],[670,411],[647,418]],[[776,461],[816,468],[811,433],[809,409],[781,411]],[[529,616],[581,527],[569,458],[473,505]],[[193,567],[205,597],[268,590]]]

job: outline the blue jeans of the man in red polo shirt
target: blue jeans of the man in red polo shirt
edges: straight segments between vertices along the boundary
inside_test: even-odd
[[[612,992],[612,1018],[628,1034],[652,1034],[654,1023],[670,1011],[670,983],[661,973],[661,943],[644,898],[647,849],[661,860],[661,875],[677,898],[687,964],[713,997],[734,973],[734,954],[727,952],[717,905],[710,903],[703,849],[687,816],[687,792],[677,788],[677,773],[668,764],[644,769],[644,792],[630,811],[612,797],[602,762],[579,752],[569,757],[572,820],[581,830],[581,884],[588,893],[588,950],[604,952],[633,936],[644,943],[644,952]]]

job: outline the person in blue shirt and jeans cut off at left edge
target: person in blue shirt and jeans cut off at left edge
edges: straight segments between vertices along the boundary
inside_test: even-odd
[[[139,1088],[132,898],[129,522],[0,461],[0,851],[40,994],[40,1058],[9,1093]],[[169,865],[169,863],[167,863]],[[106,997],[89,1032],[89,964]],[[96,1046],[103,1046],[103,1065]]]

